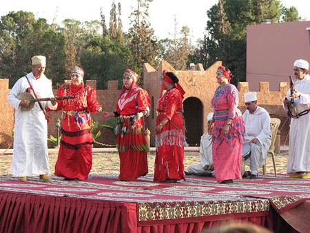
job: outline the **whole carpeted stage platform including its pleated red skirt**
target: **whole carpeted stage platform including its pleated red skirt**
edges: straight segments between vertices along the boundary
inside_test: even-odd
[[[87,182],[52,176],[48,183],[38,177],[21,182],[1,176],[0,232],[182,233],[231,220],[274,232],[303,232],[310,225],[309,214],[296,220],[287,213],[294,210],[298,216],[296,207],[310,200],[310,180],[259,177],[218,184],[198,176],[155,183],[152,174],[135,182],[106,174],[92,174]]]

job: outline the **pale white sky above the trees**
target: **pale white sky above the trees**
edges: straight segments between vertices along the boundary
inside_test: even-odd
[[[238,1],[238,0],[235,0]],[[302,19],[310,21],[309,0],[280,0],[289,8],[295,6]],[[130,13],[136,0],[115,0],[121,2],[123,30],[130,28]],[[182,26],[188,26],[191,30],[192,42],[203,38],[207,26],[207,10],[218,0],[153,0],[149,4],[149,23],[154,28],[156,37],[159,39],[174,37],[174,21],[176,19],[176,30],[180,31]],[[79,21],[100,20],[100,8],[103,8],[105,21],[110,21],[110,9],[112,0],[9,0],[1,2],[0,16],[10,11],[25,10],[33,12],[39,18],[45,18],[48,23],[61,23],[64,19],[76,19]]]

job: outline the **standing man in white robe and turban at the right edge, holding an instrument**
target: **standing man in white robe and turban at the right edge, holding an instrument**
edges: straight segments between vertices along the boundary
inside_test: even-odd
[[[298,118],[291,118],[289,128],[289,162],[287,174],[289,178],[310,179],[310,76],[309,63],[298,59],[293,64],[294,89],[290,90],[284,101],[293,99]]]

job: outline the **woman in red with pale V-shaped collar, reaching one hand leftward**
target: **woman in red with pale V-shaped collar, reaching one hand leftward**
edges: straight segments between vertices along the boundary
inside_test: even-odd
[[[148,172],[143,116],[149,114],[149,94],[136,84],[138,74],[125,70],[123,89],[115,112],[103,112],[103,117],[118,117],[116,148],[118,149],[121,181],[136,181]]]

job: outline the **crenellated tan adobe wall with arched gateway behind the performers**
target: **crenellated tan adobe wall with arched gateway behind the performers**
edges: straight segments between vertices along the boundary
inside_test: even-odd
[[[156,121],[156,103],[158,101],[161,88],[160,79],[163,70],[175,72],[180,79],[180,84],[185,89],[185,98],[183,101],[185,109],[185,122],[187,123],[187,138],[198,140],[200,134],[207,130],[207,123],[205,121],[207,114],[211,111],[211,97],[218,87],[216,83],[216,69],[222,63],[217,61],[211,65],[207,70],[203,69],[201,64],[197,64],[192,70],[174,70],[172,65],[166,61],[161,61],[158,68],[155,69],[148,63],[143,65],[144,74],[144,88],[149,92],[152,100],[151,114],[146,120],[146,125],[151,130],[151,143],[154,145],[154,128]],[[70,81],[66,81],[70,82]],[[96,89],[96,80],[87,80],[87,85]],[[8,79],[0,79],[0,148],[6,148],[12,142],[12,130],[14,128],[14,110],[10,107],[7,97]],[[285,143],[288,134],[287,113],[282,108],[282,100],[285,93],[289,89],[288,83],[280,83],[278,91],[269,91],[268,82],[260,82],[260,89],[258,93],[258,105],[265,108],[271,117],[278,117],[282,121],[281,129],[281,143]],[[249,84],[238,83],[240,110],[245,111],[243,94],[249,90]],[[108,81],[107,90],[96,90],[99,103],[103,105],[104,111],[114,111],[116,99],[120,90],[118,90],[118,81]],[[56,94],[56,90],[54,90]],[[48,123],[48,135],[56,136],[56,119],[61,118],[61,112],[48,112],[51,117]],[[99,121],[99,124],[105,123],[101,114],[92,114],[94,121]],[[99,139],[102,143],[114,144],[115,136],[109,130],[101,129],[102,136]],[[288,139],[287,139],[288,142]]]

